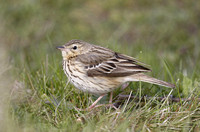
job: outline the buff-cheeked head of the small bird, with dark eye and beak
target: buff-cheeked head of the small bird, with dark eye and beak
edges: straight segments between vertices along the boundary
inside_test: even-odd
[[[71,40],[65,45],[57,46],[61,50],[64,60],[69,60],[78,55],[85,54],[91,49],[91,44],[81,40]]]

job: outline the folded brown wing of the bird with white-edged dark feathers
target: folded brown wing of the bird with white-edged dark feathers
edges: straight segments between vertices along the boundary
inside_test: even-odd
[[[87,75],[91,77],[123,77],[151,71],[149,68],[140,65],[136,59],[103,47],[97,47],[90,53],[82,55],[79,57],[79,61],[84,63]]]

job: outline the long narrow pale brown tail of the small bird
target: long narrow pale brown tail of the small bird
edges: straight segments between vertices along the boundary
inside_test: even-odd
[[[134,74],[132,76],[129,76],[128,81],[142,81],[142,82],[153,83],[156,85],[161,85],[161,86],[165,86],[165,87],[169,87],[169,88],[175,88],[174,84],[171,84],[171,83],[168,83],[168,82],[165,82],[162,80],[158,80],[156,78],[150,77],[143,73]]]

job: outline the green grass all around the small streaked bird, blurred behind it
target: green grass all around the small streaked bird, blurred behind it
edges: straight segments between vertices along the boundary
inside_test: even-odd
[[[14,82],[5,96],[8,130],[199,131],[200,2],[1,1],[0,35]],[[176,89],[133,82],[119,110],[87,108],[97,97],[67,84],[56,46],[82,39],[151,65],[149,75]],[[4,74],[1,74],[4,76]],[[2,83],[3,86],[3,83]],[[156,97],[190,98],[171,102]],[[101,103],[108,103],[109,96]]]

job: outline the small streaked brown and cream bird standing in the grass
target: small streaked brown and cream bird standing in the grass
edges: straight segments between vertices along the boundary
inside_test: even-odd
[[[82,40],[71,40],[56,48],[62,52],[63,70],[68,80],[83,92],[100,95],[88,109],[126,82],[142,81],[175,88],[174,84],[145,75],[151,71],[145,64],[110,49]]]

